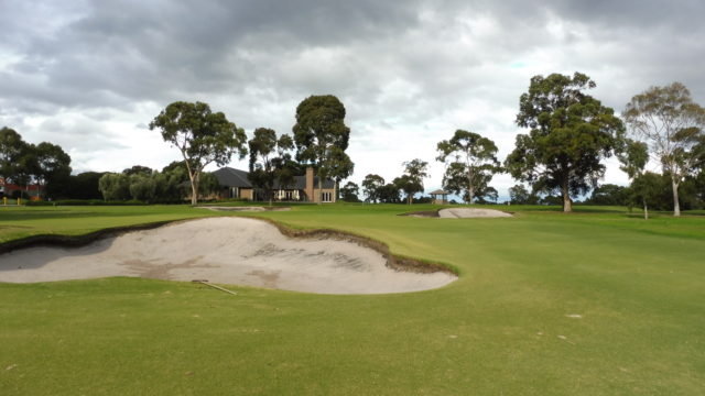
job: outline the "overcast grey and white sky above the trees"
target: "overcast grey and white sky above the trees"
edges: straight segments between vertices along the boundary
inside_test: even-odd
[[[534,75],[585,73],[618,112],[675,80],[705,105],[703,15],[702,0],[0,0],[0,127],[59,144],[75,172],[161,169],[180,153],[147,124],[173,101],[291,133],[299,102],[332,94],[351,180],[391,180],[419,157],[429,191],[436,143],[456,129],[492,139],[503,161],[527,132],[514,119]],[[627,183],[614,161],[604,183]],[[500,196],[513,184],[491,183]]]

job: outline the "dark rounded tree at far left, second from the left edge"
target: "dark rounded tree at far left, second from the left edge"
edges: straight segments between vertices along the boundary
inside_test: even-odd
[[[52,143],[42,142],[34,147],[36,184],[43,195],[58,191],[61,184],[65,184],[70,175],[70,156],[64,150]]]

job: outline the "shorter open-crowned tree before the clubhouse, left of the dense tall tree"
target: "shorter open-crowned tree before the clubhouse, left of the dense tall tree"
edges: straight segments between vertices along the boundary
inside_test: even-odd
[[[294,143],[288,134],[278,139],[274,130],[258,128],[248,145],[250,147],[248,177],[253,185],[264,189],[271,206],[275,183],[285,184],[282,182],[286,182],[285,178],[290,175],[285,165],[289,158],[288,152],[294,148]]]

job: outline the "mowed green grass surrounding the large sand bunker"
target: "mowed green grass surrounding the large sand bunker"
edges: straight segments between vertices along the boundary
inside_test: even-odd
[[[431,208],[249,215],[351,231],[459,272],[436,290],[328,296],[229,286],[232,296],[139,278],[0,284],[0,394],[703,394],[705,217],[643,221],[579,207],[511,207],[510,219],[397,216]],[[0,209],[3,241],[231,215]]]

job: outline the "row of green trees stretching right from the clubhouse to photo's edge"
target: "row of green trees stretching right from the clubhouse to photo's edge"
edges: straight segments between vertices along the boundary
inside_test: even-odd
[[[489,182],[497,173],[509,173],[530,187],[511,187],[512,204],[558,204],[570,212],[576,197],[592,190],[588,202],[597,204],[605,201],[601,196],[607,189],[615,190],[600,188],[598,180],[605,175],[604,161],[616,156],[631,180],[619,189],[620,205],[642,206],[648,216],[649,206],[664,209],[670,190],[674,216],[680,216],[681,201],[703,207],[705,109],[693,102],[687,88],[680,82],[651,87],[632,97],[622,120],[586,94],[595,87],[581,73],[534,76],[519,99],[516,119],[517,125],[530,131],[517,135],[514,150],[503,163],[496,156],[496,144],[474,132],[457,130],[449,140],[438,142],[436,161],[445,164],[443,188],[466,202],[496,201],[497,190]],[[650,158],[661,164],[661,174],[646,170]],[[365,200],[398,202],[403,191],[411,202],[413,194],[423,191],[425,174],[414,176],[409,170],[389,184],[379,175],[367,175]],[[343,193],[356,199],[359,187],[348,183]]]

